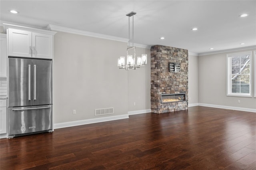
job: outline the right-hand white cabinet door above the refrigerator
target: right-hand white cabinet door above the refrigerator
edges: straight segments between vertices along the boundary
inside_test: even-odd
[[[32,32],[32,57],[52,59],[52,35]]]

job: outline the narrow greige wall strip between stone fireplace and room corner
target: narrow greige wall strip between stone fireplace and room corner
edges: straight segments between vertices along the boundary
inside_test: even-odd
[[[188,54],[188,106],[198,105],[198,56]]]

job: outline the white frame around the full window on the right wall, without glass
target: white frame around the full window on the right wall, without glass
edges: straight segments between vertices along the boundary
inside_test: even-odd
[[[255,51],[254,51],[255,52]],[[231,74],[232,74],[232,63],[231,58],[232,57],[239,57],[241,55],[249,55],[250,56],[250,93],[232,93],[232,80],[231,80]],[[255,59],[254,59],[255,60]],[[252,97],[252,87],[254,87],[252,83],[252,51],[246,51],[242,53],[231,53],[227,54],[227,96],[237,96],[237,97]],[[254,90],[254,95],[255,90]]]

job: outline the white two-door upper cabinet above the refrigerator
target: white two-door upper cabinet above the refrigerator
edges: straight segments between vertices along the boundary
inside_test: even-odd
[[[52,59],[53,35],[8,29],[8,56]]]

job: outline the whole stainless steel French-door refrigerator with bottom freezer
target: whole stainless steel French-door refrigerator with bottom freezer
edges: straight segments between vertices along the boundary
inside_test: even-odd
[[[8,137],[52,132],[52,60],[8,58]]]

